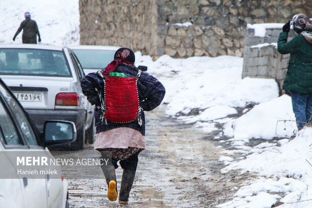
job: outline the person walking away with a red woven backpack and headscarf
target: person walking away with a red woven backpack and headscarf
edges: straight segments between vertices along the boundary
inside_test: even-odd
[[[157,79],[139,71],[134,61],[131,49],[119,48],[106,68],[86,75],[81,81],[83,93],[96,106],[94,149],[101,153],[103,160],[111,158],[102,165],[108,184],[107,197],[111,201],[117,200],[118,195],[115,174],[118,161],[123,168],[119,200],[128,201],[138,154],[145,149],[144,111],[159,106],[166,92]],[[114,109],[110,112],[110,108]],[[130,111],[134,116],[128,119]]]

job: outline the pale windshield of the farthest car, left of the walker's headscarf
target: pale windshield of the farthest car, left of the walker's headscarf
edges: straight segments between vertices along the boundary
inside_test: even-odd
[[[114,60],[115,50],[73,49],[84,69],[105,68]]]

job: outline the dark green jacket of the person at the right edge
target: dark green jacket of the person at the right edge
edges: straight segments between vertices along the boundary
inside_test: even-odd
[[[304,37],[299,34],[287,42],[288,33],[281,32],[279,34],[278,52],[290,53],[283,84],[285,91],[312,94],[312,44],[307,41],[308,36],[312,38],[312,30],[305,31]]]

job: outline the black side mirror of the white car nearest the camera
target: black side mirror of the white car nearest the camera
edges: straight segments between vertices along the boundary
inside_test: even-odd
[[[71,121],[48,120],[44,123],[43,141],[46,147],[76,141],[76,126]]]

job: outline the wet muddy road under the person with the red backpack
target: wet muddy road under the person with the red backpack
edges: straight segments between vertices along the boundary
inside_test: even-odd
[[[220,148],[226,147],[220,147],[222,137],[212,139],[218,132],[209,134],[169,118],[163,113],[165,107],[146,112],[146,150],[139,155],[128,204],[107,199],[107,185],[98,167],[93,172],[102,179],[68,179],[70,207],[215,207],[248,183],[250,175],[220,173],[224,167],[218,161]],[[89,145],[84,151],[92,150]],[[74,172],[67,172],[74,178]],[[120,167],[116,175],[119,190]]]

